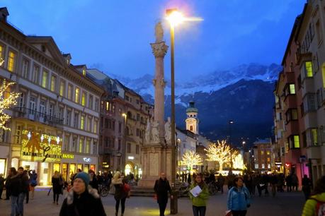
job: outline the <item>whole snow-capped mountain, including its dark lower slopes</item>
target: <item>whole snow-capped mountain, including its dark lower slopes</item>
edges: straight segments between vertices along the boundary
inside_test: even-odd
[[[271,136],[273,125],[274,83],[282,67],[276,64],[244,64],[229,70],[214,71],[204,76],[194,77],[184,83],[176,83],[176,124],[185,128],[186,107],[195,101],[200,119],[200,133],[212,140],[229,136],[229,119],[232,125],[232,143],[253,143],[256,138]],[[117,78],[128,88],[132,88],[154,104],[154,75],[144,75],[131,80]],[[165,89],[165,114],[170,116],[170,86]],[[251,142],[249,140],[251,140]]]

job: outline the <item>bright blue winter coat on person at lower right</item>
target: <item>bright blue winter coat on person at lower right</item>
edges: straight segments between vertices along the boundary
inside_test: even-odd
[[[250,193],[246,187],[232,187],[228,192],[228,210],[246,210],[251,205]]]

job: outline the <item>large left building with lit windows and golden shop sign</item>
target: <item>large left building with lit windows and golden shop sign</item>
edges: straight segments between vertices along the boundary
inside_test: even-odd
[[[3,12],[6,8],[1,8]],[[64,179],[76,169],[98,169],[101,88],[80,73],[52,37],[26,36],[0,21],[1,80],[16,83],[18,104],[8,113],[11,131],[2,131],[1,170],[25,167],[50,184],[55,171]]]

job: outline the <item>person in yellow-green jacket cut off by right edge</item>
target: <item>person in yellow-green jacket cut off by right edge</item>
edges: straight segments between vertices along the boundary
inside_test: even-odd
[[[325,215],[325,176],[316,181],[312,196],[304,203],[302,216]]]

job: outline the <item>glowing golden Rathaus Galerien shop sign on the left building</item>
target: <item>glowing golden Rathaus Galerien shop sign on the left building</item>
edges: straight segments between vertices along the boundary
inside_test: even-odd
[[[21,134],[21,160],[61,162],[62,138],[35,131]]]

